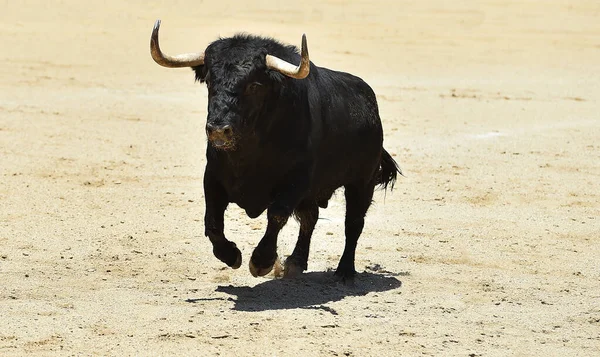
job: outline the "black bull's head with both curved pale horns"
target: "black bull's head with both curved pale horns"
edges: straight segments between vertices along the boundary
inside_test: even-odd
[[[248,47],[244,37],[216,41],[205,52],[168,56],[160,50],[158,30],[154,24],[150,39],[152,58],[169,68],[192,67],[196,79],[208,88],[206,134],[217,149],[236,146],[241,134],[248,130],[266,108],[267,98],[277,91],[280,81],[273,71],[294,79],[304,79],[310,71],[306,36],[302,36],[301,61],[295,66],[270,55],[260,46]],[[246,42],[247,43],[247,42]]]

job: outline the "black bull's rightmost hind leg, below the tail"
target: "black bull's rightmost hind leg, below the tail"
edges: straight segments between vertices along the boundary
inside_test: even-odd
[[[354,256],[358,237],[365,225],[365,215],[373,199],[373,182],[366,185],[346,185],[346,246],[338,264],[335,275],[340,280],[352,281],[356,274]]]

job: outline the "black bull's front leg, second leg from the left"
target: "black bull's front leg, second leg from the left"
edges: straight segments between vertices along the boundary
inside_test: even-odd
[[[250,258],[250,273],[257,276],[269,274],[277,260],[277,237],[302,200],[308,189],[308,180],[295,176],[294,182],[280,186],[279,193],[267,209],[267,230],[260,240],[252,258]]]

